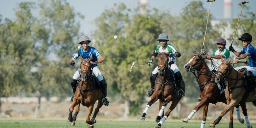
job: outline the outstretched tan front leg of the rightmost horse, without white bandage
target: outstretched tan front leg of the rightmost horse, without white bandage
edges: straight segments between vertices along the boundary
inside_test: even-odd
[[[241,99],[240,99],[241,100]],[[229,101],[227,100],[227,104],[228,106],[226,106],[224,108],[224,110],[220,113],[220,116],[214,120],[209,126],[210,127],[215,127],[216,124],[218,124],[221,120],[221,118],[226,115],[226,113],[228,113],[230,110],[232,110],[236,105],[238,105],[237,101],[240,101],[238,99],[232,99],[231,102],[229,103]]]

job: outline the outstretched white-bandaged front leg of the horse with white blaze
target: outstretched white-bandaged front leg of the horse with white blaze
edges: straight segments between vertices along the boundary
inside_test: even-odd
[[[202,98],[202,100],[199,102],[199,104],[192,110],[192,112],[187,116],[187,118],[183,119],[183,122],[188,122],[194,115],[195,113],[202,108],[203,106],[205,106],[205,104],[209,104],[209,97],[208,96],[204,96]]]

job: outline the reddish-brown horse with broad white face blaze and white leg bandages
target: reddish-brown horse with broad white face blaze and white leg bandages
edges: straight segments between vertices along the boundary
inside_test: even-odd
[[[207,118],[207,112],[208,112],[208,105],[209,103],[216,104],[217,102],[223,102],[227,104],[225,95],[220,94],[220,90],[218,89],[216,83],[214,82],[215,75],[211,73],[209,67],[207,66],[206,62],[204,61],[205,58],[203,58],[202,53],[197,55],[194,52],[193,57],[188,61],[187,64],[184,65],[185,71],[191,71],[195,77],[197,78],[197,82],[199,83],[200,88],[200,97],[201,102],[193,109],[193,111],[190,113],[190,115],[183,119],[182,121],[187,123],[193,115],[203,107],[203,118],[201,122],[201,128],[205,127],[205,121]],[[195,74],[197,72],[197,76]],[[237,108],[237,118],[240,121],[240,123],[244,123],[244,119],[240,117],[240,110],[239,105],[236,106]],[[245,107],[242,107],[243,113],[246,109]],[[245,113],[244,113],[245,114]]]

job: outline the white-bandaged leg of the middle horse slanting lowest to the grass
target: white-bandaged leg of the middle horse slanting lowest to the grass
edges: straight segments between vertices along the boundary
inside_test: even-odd
[[[167,119],[167,117],[170,115],[170,113],[172,112],[172,110],[174,110],[174,108],[177,106],[177,104],[179,103],[179,100],[181,98],[177,98],[176,100],[172,101],[172,104],[170,106],[170,108],[166,111],[166,113],[164,114],[164,117],[160,120],[160,122],[156,125],[156,128],[160,128],[163,124],[164,121]],[[164,102],[163,106],[168,103],[168,102]],[[167,104],[166,104],[167,105]],[[161,108],[162,109],[162,108]]]

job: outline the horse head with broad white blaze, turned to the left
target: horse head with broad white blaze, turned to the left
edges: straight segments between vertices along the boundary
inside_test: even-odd
[[[197,55],[195,52],[193,53],[194,53],[193,57],[187,62],[187,64],[184,65],[184,69],[187,72],[193,69],[200,70],[203,67],[204,59],[201,56],[203,54],[200,53],[199,55]]]

